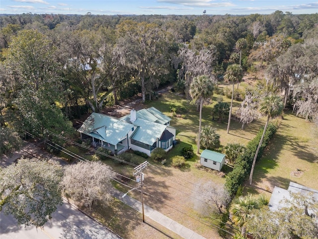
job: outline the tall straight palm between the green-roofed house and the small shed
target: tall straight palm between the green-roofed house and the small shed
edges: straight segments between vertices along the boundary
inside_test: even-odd
[[[193,100],[200,102],[200,119],[199,119],[199,134],[198,134],[198,151],[200,153],[200,136],[201,136],[201,121],[202,121],[202,106],[203,101],[213,96],[214,82],[208,76],[202,75],[193,78],[190,84],[190,96]]]

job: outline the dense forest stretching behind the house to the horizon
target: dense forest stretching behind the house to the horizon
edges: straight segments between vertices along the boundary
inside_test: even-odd
[[[174,84],[188,97],[193,79],[223,81],[227,67],[266,79],[285,108],[318,112],[318,14],[0,16],[1,151],[18,135],[72,133],[87,111]],[[6,127],[7,126],[7,127]],[[3,140],[2,140],[3,142]]]

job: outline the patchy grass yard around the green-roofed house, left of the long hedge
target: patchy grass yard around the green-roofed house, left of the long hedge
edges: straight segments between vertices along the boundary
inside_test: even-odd
[[[264,125],[264,122],[262,120],[255,120],[252,124],[246,125],[245,130],[242,130],[239,122],[232,121],[230,133],[227,134],[227,122],[214,121],[211,117],[211,109],[218,97],[218,95],[215,95],[213,97],[213,104],[203,107],[202,125],[210,124],[217,128],[218,133],[221,135],[221,146],[225,146],[228,142],[246,144],[255,136],[259,130],[259,126]],[[224,102],[230,103],[230,99],[226,99],[226,97],[223,97],[223,99]],[[185,119],[173,118],[170,112],[171,105],[185,108],[187,110]],[[176,138],[180,141],[168,152],[168,163],[166,166],[147,159],[151,165],[144,171],[145,192],[151,196],[144,196],[145,204],[205,238],[221,238],[217,233],[217,229],[211,226],[211,224],[219,224],[219,215],[212,213],[209,217],[202,216],[194,209],[194,204],[196,200],[200,199],[200,194],[198,193],[199,184],[213,181],[221,187],[225,182],[225,178],[220,177],[216,171],[213,170],[197,169],[195,167],[195,164],[199,160],[199,155],[197,154],[188,160],[186,166],[181,169],[170,167],[169,164],[170,158],[174,155],[179,155],[181,148],[184,146],[192,145],[194,152],[197,151],[195,137],[198,133],[199,113],[196,112],[196,107],[191,105],[182,96],[172,92],[162,94],[157,101],[149,102],[144,107],[149,108],[152,106],[172,119],[170,125],[176,127]],[[239,102],[234,102],[234,106],[235,111],[236,108],[239,107]],[[200,151],[202,152],[202,149]],[[145,159],[141,160],[145,161]],[[110,164],[114,171],[128,177],[133,177],[133,167],[110,162],[109,160],[106,160],[106,163]],[[230,168],[225,166],[224,169],[225,171],[229,171]],[[123,192],[128,191],[127,188],[123,186],[115,186]],[[130,192],[129,195],[140,200],[140,193],[137,191]],[[99,210],[96,210],[94,215],[100,214],[100,216],[97,216],[99,218],[106,217],[107,215],[107,218],[111,218],[114,217],[112,215],[116,215],[117,213],[115,218],[118,221],[116,221],[116,223],[107,223],[105,220],[104,223],[114,232],[123,235],[124,238],[146,239],[149,238],[149,235],[152,235],[152,233],[156,233],[154,234],[156,236],[152,236],[151,238],[166,238],[167,236],[164,236],[164,234],[171,234],[171,232],[166,232],[165,229],[158,227],[154,222],[152,222],[152,224],[156,229],[149,225],[145,227],[145,224],[140,224],[141,215],[139,213],[131,211],[131,209],[126,206],[122,206],[120,202],[117,202],[117,204],[116,207],[111,207],[113,209],[105,209],[106,211],[104,213],[103,211],[99,212]],[[118,208],[122,208],[120,212]],[[103,220],[101,221],[103,222]],[[133,223],[135,221],[136,223]],[[118,226],[118,222],[122,222],[121,226]],[[149,222],[149,219],[146,218],[146,222]],[[150,234],[146,233],[148,231]],[[161,233],[159,233],[159,231],[161,231]],[[161,236],[157,235],[157,233],[161,234]],[[176,235],[170,237],[178,238]]]

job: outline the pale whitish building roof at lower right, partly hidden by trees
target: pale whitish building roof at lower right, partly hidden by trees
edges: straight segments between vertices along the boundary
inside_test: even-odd
[[[288,189],[283,189],[276,187],[273,190],[272,196],[270,197],[268,207],[272,211],[277,211],[281,208],[287,207],[288,205],[284,203],[284,199],[291,199],[290,193],[301,193],[307,195],[308,193],[313,193],[313,196],[318,201],[318,190],[303,186],[298,183],[289,182]]]

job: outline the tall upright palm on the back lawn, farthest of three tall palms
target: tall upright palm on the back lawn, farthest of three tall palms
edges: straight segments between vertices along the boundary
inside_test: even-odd
[[[233,105],[233,97],[234,97],[234,84],[236,82],[240,82],[243,78],[242,75],[242,68],[238,64],[233,64],[228,66],[227,71],[225,73],[224,79],[228,82],[232,83],[232,98],[231,98],[231,107],[229,112],[229,122],[228,122],[228,129],[227,133],[230,130],[230,123],[231,123],[231,116],[232,116],[232,105]]]

